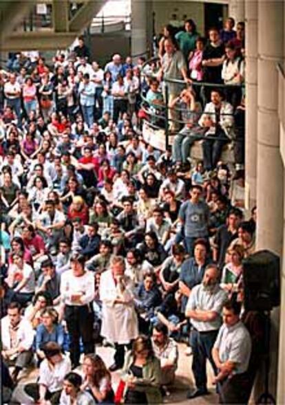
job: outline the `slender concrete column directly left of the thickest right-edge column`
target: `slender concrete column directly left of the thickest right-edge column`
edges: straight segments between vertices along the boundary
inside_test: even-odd
[[[257,171],[257,0],[245,0],[246,19],[246,208],[256,204]]]

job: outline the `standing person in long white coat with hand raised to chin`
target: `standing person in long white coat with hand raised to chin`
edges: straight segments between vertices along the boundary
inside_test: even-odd
[[[99,292],[102,301],[101,335],[115,344],[114,364],[109,370],[116,371],[123,367],[125,346],[129,347],[131,340],[138,336],[132,284],[125,276],[122,256],[112,257],[110,270],[101,275]]]

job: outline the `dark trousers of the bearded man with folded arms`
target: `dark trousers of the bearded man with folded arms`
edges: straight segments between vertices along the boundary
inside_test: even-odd
[[[192,371],[195,377],[196,386],[200,390],[207,389],[207,359],[211,362],[215,375],[217,368],[212,358],[212,349],[217,338],[217,331],[198,332],[196,329],[191,331],[190,345],[193,353]]]

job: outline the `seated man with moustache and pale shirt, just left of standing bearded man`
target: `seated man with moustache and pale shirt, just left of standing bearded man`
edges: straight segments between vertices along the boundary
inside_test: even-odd
[[[173,384],[178,366],[178,344],[168,336],[166,325],[157,323],[152,331],[152,347],[160,360],[161,384]]]

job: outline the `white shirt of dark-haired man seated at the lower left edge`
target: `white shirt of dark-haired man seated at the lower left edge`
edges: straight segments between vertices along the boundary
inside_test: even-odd
[[[2,349],[9,350],[11,349],[11,339],[10,339],[10,318],[5,316],[1,320],[1,338],[2,338]],[[16,347],[18,344],[21,344],[26,350],[31,349],[32,343],[34,341],[34,330],[32,329],[31,323],[25,319],[21,318],[19,324],[17,325],[16,333]]]

